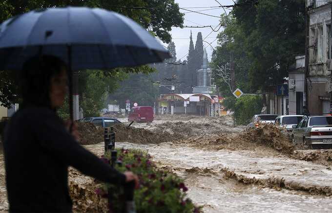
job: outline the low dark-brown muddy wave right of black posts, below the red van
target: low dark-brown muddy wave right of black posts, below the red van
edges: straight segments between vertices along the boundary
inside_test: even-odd
[[[157,132],[145,128],[127,127],[123,124],[114,125],[116,142],[133,142],[133,143],[161,143],[169,142],[182,138],[179,134],[171,134],[163,129]]]

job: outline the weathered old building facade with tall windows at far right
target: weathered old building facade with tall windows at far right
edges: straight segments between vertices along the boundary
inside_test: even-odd
[[[311,114],[331,113],[331,2],[307,0],[309,17],[307,103]]]

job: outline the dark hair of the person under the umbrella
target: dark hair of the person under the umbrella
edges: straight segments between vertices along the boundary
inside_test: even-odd
[[[27,60],[20,72],[21,98],[20,108],[27,106],[46,106],[51,108],[50,81],[60,74],[66,64],[52,55],[37,55]]]

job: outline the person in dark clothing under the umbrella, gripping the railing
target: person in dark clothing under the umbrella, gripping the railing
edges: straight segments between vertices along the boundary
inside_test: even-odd
[[[3,142],[9,212],[72,212],[69,166],[104,182],[134,181],[138,187],[136,175],[120,173],[87,151],[77,142],[77,126],[58,117],[68,90],[66,70],[62,60],[48,55],[24,63],[21,107]]]

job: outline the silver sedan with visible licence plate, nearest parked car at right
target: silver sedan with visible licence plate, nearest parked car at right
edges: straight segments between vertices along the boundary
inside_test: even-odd
[[[311,149],[332,147],[332,116],[305,116],[292,127],[293,143],[303,142]]]

